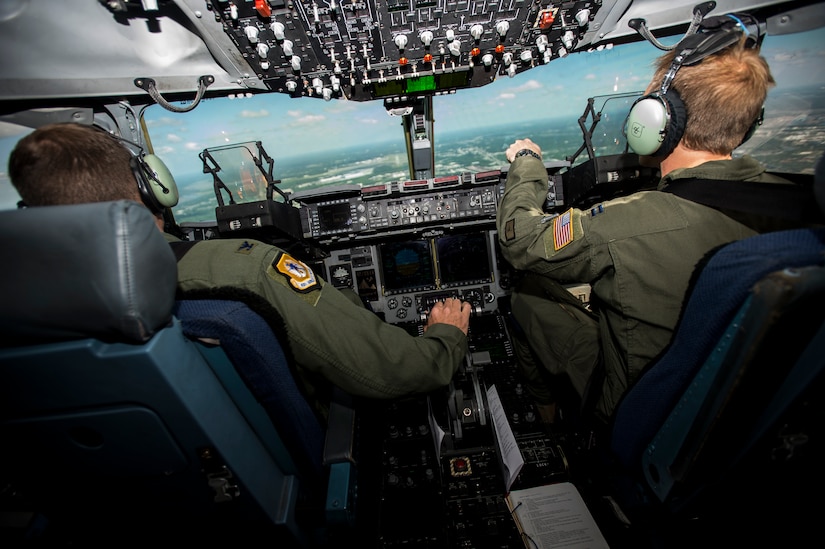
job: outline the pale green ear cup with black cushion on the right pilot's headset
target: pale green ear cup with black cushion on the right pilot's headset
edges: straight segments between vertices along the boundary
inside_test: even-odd
[[[641,156],[667,156],[685,133],[685,105],[675,90],[653,93],[633,103],[625,120],[627,144]]]

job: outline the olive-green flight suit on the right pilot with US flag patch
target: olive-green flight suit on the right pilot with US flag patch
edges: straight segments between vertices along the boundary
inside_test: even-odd
[[[603,363],[603,385],[589,389],[602,419],[669,343],[697,262],[756,234],[713,208],[661,192],[668,181],[696,177],[787,183],[750,157],[713,161],[674,171],[656,191],[554,216],[542,210],[542,162],[523,156],[510,166],[498,239],[513,267],[529,271],[513,292],[513,315],[544,367],[568,375],[580,396]],[[565,285],[580,283],[591,285],[595,315],[561,296]]]

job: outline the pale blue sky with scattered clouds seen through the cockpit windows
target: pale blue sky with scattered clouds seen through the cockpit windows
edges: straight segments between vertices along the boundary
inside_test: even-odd
[[[668,43],[668,42],[666,42]],[[672,42],[670,42],[672,43]],[[662,52],[647,42],[605,47],[554,59],[513,78],[460,90],[433,100],[436,136],[452,129],[493,127],[556,117],[578,117],[588,97],[642,91],[652,74],[652,60]],[[818,83],[825,77],[825,29],[768,36],[762,48],[777,88]],[[262,141],[276,160],[282,155],[403,140],[400,117],[390,116],[383,101],[323,101],[264,94],[234,100],[204,100],[193,111],[172,113],[158,105],[146,111],[154,152],[174,176],[201,170],[198,153],[243,141]],[[6,159],[20,138],[19,128],[0,124],[0,209],[17,197],[5,174]]]

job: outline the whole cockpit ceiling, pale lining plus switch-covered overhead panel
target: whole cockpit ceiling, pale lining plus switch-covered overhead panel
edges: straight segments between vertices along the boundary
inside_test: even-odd
[[[712,14],[823,3],[725,0]],[[4,0],[0,100],[278,92],[355,101],[490,84],[617,39],[677,32],[696,0]],[[778,7],[779,6],[779,7]],[[774,9],[776,8],[776,9]]]

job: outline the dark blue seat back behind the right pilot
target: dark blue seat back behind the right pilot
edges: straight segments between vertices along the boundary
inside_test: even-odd
[[[630,508],[677,515],[710,509],[711,499],[742,503],[728,479],[758,462],[760,445],[776,455],[788,443],[782,422],[821,387],[823,307],[825,229],[762,234],[712,255],[670,346],[614,416],[612,454],[638,481]]]

